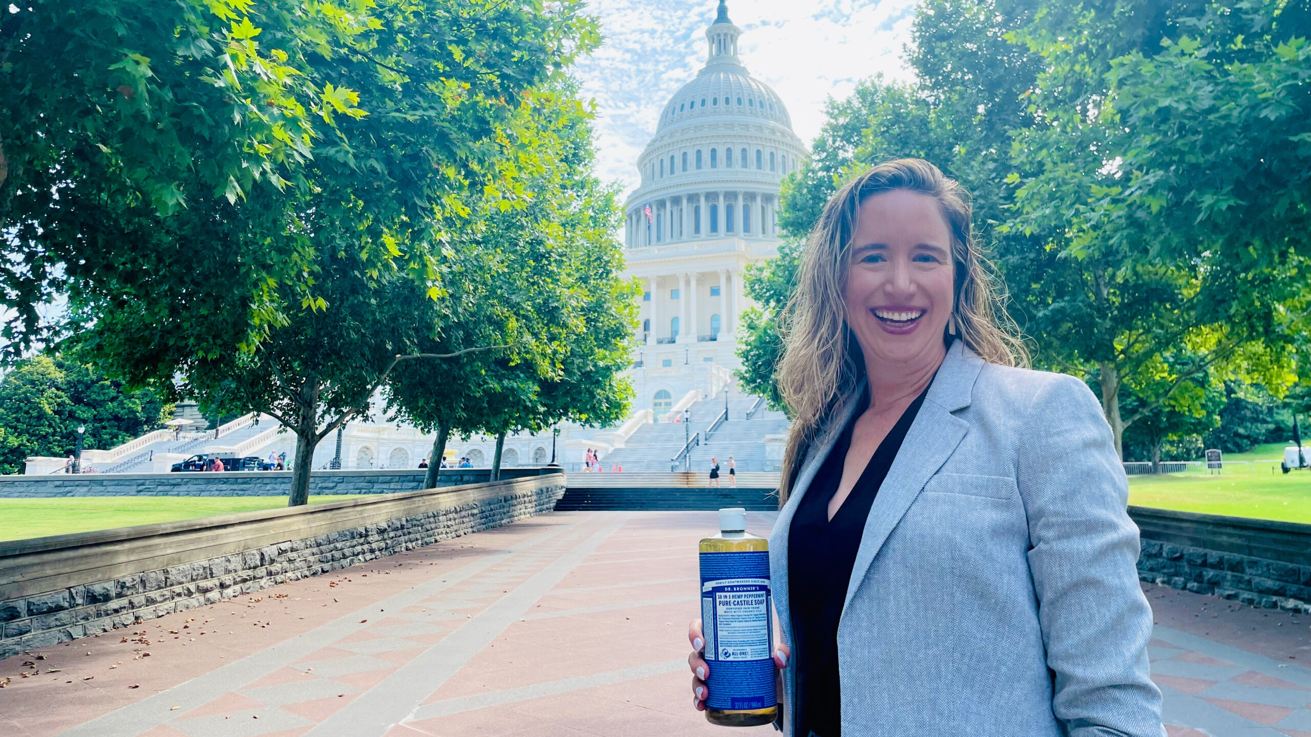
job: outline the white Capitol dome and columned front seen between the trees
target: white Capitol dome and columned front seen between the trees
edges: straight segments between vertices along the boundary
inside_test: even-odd
[[[707,62],[661,110],[624,206],[627,274],[644,286],[635,408],[656,421],[732,380],[743,269],[777,254],[779,186],[808,155],[787,106],[738,56],[721,0]]]

